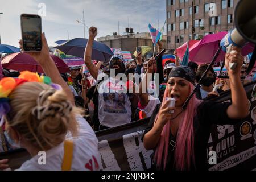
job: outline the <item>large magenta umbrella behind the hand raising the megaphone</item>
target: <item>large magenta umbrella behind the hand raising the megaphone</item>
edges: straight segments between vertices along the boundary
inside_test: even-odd
[[[219,32],[217,34],[209,34],[204,36],[200,42],[193,44],[189,48],[189,59],[195,62],[210,63],[214,54],[216,53],[220,42],[228,32]],[[250,52],[253,52],[254,45],[249,43],[242,49],[242,55],[246,56]],[[220,55],[216,61],[224,60],[225,52],[221,50]]]

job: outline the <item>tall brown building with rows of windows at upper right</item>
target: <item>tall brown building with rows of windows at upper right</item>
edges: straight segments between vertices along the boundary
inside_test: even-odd
[[[238,0],[166,0],[167,49],[234,28]]]

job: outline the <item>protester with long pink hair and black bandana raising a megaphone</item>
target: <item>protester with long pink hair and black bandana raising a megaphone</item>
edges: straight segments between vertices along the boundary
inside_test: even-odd
[[[247,117],[249,106],[245,89],[240,81],[243,57],[241,51],[226,54],[226,65],[237,63],[230,70],[232,103],[197,100],[194,95],[183,109],[183,104],[194,89],[193,71],[188,67],[173,68],[168,77],[163,103],[159,104],[151,116],[145,130],[143,144],[147,150],[154,150],[152,168],[170,170],[206,170],[208,165],[207,143],[212,125],[225,125]],[[175,107],[168,107],[175,99]],[[142,103],[143,104],[143,103]],[[174,113],[172,114],[172,111]]]

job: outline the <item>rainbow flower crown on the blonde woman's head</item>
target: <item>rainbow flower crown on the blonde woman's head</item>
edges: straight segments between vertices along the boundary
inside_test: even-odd
[[[9,104],[9,94],[13,90],[25,82],[42,82],[47,85],[51,85],[55,90],[60,90],[61,86],[53,84],[51,78],[48,76],[39,76],[38,73],[33,73],[30,71],[20,72],[18,78],[5,77],[0,80],[0,127],[3,125],[4,116],[10,112],[11,107]]]

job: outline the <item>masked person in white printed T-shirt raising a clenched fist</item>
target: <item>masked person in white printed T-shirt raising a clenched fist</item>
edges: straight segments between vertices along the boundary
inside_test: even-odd
[[[92,64],[92,45],[93,40],[97,35],[97,28],[89,29],[89,39],[85,49],[85,64],[89,69],[90,74],[98,81],[104,77],[101,71]],[[119,73],[125,73],[125,60],[121,55],[114,55],[109,61],[109,69],[114,70],[115,74],[106,77],[102,81],[97,90],[98,94],[98,118],[100,121],[100,129],[112,128],[124,125],[131,122],[131,107],[136,107],[138,101],[135,94],[129,97],[123,93],[129,89],[126,82],[121,79],[115,79]],[[121,86],[122,85],[122,86]],[[130,89],[134,87],[131,86]]]

